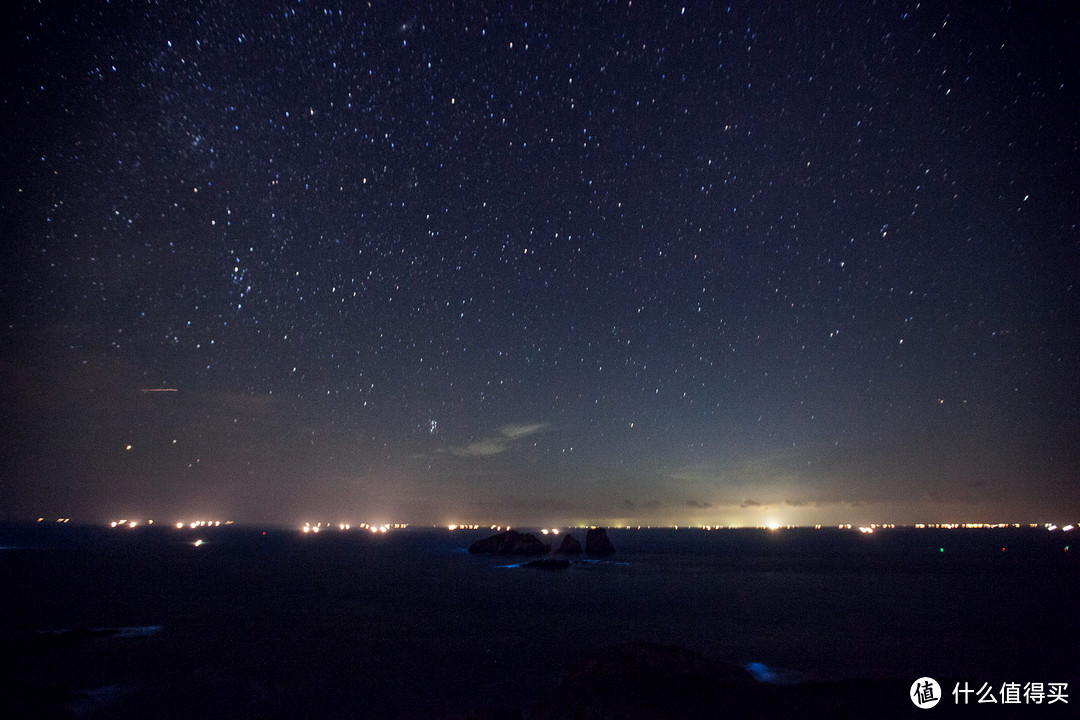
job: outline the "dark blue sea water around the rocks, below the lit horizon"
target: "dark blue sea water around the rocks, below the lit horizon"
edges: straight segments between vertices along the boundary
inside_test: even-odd
[[[487,534],[0,527],[5,707],[527,714],[635,640],[782,682],[1064,681],[1080,703],[1080,548],[1059,531],[611,530],[616,555],[559,571],[465,552]]]

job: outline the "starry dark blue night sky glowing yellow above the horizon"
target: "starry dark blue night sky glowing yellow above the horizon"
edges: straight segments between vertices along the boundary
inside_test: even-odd
[[[1080,514],[1076,3],[2,12],[4,517]]]

